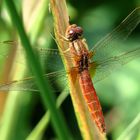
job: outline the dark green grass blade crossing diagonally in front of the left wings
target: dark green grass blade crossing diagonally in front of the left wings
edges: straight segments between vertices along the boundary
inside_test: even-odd
[[[52,119],[53,126],[55,128],[55,131],[56,131],[59,139],[65,140],[65,139],[71,138],[71,136],[68,132],[68,128],[66,127],[66,125],[64,123],[64,119],[62,118],[62,115],[56,109],[55,99],[54,99],[50,89],[47,87],[47,85],[48,85],[47,81],[45,82],[44,79],[40,76],[40,75],[42,75],[42,70],[40,68],[40,64],[39,64],[35,54],[32,51],[32,47],[31,47],[28,37],[24,31],[23,23],[22,23],[19,15],[17,14],[14,3],[11,0],[6,0],[5,2],[8,7],[10,17],[18,30],[18,33],[19,33],[19,36],[21,39],[21,43],[23,44],[23,47],[25,49],[31,70],[32,70],[33,74],[35,75],[36,83],[41,91],[41,97],[42,97],[43,103],[50,110],[51,119]],[[60,126],[61,126],[61,129],[60,129]]]

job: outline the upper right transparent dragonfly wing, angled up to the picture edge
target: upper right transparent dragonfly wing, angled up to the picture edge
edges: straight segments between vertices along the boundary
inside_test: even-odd
[[[126,39],[139,23],[140,7],[132,11],[118,27],[95,44],[95,46],[91,49],[94,54],[94,61],[102,61],[106,57],[113,57],[123,52],[132,50],[130,45],[125,45]],[[136,42],[136,40],[131,40],[130,43],[131,42]]]

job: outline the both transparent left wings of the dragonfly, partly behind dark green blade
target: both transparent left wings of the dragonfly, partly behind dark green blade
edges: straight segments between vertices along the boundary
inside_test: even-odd
[[[0,43],[0,60],[3,58],[9,57],[9,51],[12,48],[15,48],[17,45],[16,41],[4,41]],[[9,50],[9,51],[8,51]],[[66,72],[64,70],[64,66],[62,60],[60,58],[60,53],[57,49],[39,49],[37,48],[35,52],[38,54],[40,58],[40,63],[44,69],[43,77],[50,81],[50,84],[58,90],[58,86],[65,87],[67,85],[66,80]],[[20,65],[24,65],[26,63],[24,50],[22,48],[17,48],[16,53],[21,54],[20,60],[14,60],[14,63],[18,63]],[[11,61],[11,59],[9,60]],[[53,71],[53,72],[52,72]],[[20,90],[20,91],[38,91],[38,88],[35,83],[35,79],[30,76],[30,70],[27,69],[27,73],[29,72],[28,78],[23,80],[15,80],[8,83],[0,83],[0,91],[8,91],[8,90]],[[56,87],[57,85],[57,87]]]

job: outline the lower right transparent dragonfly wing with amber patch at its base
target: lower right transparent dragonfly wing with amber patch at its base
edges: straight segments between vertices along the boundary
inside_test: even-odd
[[[112,71],[119,69],[122,65],[130,62],[131,60],[137,57],[140,57],[140,47],[133,51],[129,51],[127,53],[122,53],[120,55],[107,58],[100,62],[93,62],[93,69],[96,70],[94,83],[103,80],[109,74],[111,74]],[[93,69],[91,69],[91,73]]]

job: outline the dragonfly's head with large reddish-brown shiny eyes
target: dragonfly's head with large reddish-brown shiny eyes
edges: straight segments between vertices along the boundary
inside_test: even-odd
[[[77,26],[76,24],[72,24],[70,26],[68,26],[66,33],[65,33],[65,37],[70,41],[74,41],[77,39],[81,39],[83,35],[83,29],[79,26]]]

